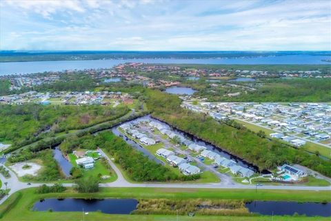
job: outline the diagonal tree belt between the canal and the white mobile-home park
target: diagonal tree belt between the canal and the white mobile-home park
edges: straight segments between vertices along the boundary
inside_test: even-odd
[[[181,101],[174,95],[152,91],[148,109],[152,115],[187,133],[196,135],[225,151],[237,155],[259,169],[274,169],[283,163],[301,164],[331,177],[331,162],[309,155],[302,149],[289,148],[277,140],[267,140],[237,122],[216,122],[207,115],[180,108]]]

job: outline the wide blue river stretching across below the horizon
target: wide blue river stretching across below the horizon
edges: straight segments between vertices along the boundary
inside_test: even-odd
[[[84,70],[90,68],[112,68],[126,62],[150,64],[330,64],[322,61],[329,56],[283,55],[274,57],[247,57],[231,59],[113,59],[86,61],[26,61],[0,62],[0,75],[43,73],[45,71]]]

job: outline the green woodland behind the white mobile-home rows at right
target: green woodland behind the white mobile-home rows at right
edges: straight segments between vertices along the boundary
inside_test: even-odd
[[[206,97],[210,102],[330,102],[331,79],[328,78],[295,78],[295,79],[259,79],[256,82],[235,82],[239,86],[250,86],[257,90],[225,86],[221,82],[211,87],[208,81],[191,83],[199,90],[196,97]],[[231,82],[233,84],[233,82]],[[235,97],[225,96],[228,93],[241,94]]]

